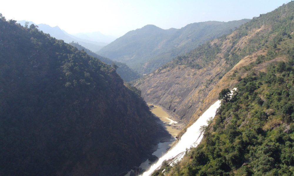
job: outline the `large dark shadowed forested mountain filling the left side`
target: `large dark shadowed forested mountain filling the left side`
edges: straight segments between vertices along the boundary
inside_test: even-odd
[[[160,128],[135,88],[84,51],[0,14],[0,175],[119,175]]]

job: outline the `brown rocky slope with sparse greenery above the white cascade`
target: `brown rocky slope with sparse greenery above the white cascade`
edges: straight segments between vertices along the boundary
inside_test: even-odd
[[[217,100],[220,90],[233,88],[248,72],[285,60],[283,54],[293,42],[293,11],[290,3],[255,17],[233,33],[176,57],[135,85],[147,102],[161,104],[187,123],[195,120]]]

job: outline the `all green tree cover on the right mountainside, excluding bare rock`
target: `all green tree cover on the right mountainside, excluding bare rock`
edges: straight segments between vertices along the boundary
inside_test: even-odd
[[[261,14],[240,26],[234,35],[219,38],[216,43],[201,45],[187,55],[163,66],[205,67],[221,57],[225,39],[231,45],[224,58],[232,68],[244,56],[266,51],[255,62],[241,67],[231,79],[239,83],[230,98],[223,89],[221,106],[211,124],[204,127],[204,138],[196,148],[173,167],[167,165],[153,175],[293,175],[294,174],[294,2]],[[263,29],[263,30],[256,30]],[[254,33],[240,47],[244,37]],[[239,46],[239,47],[236,47]],[[251,68],[276,58],[265,72]],[[283,60],[287,60],[286,62]],[[224,70],[224,74],[228,71]],[[251,70],[251,71],[250,71]],[[246,77],[241,73],[248,72]],[[220,78],[222,75],[220,75]]]

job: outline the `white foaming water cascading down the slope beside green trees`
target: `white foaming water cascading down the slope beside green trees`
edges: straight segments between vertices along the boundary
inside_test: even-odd
[[[199,132],[199,129],[203,125],[207,125],[207,120],[210,117],[214,117],[216,114],[216,110],[220,106],[220,101],[216,101],[213,105],[211,105],[203,114],[199,117],[199,119],[193,123],[187,131],[183,134],[181,139],[176,143],[173,148],[168,150],[166,154],[161,156],[156,163],[151,165],[151,167],[143,172],[141,176],[149,176],[154,172],[158,167],[161,166],[164,160],[181,160],[185,155],[186,148],[190,148],[191,146],[196,147],[198,143],[200,143],[203,135]]]

